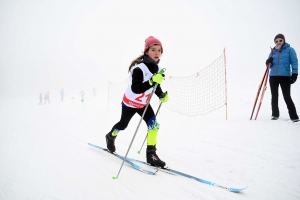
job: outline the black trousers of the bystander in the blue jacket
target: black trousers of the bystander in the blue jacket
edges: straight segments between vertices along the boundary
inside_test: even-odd
[[[289,81],[290,77],[288,76],[270,76],[272,116],[279,117],[278,88],[280,85],[290,118],[298,119],[299,117],[297,115],[296,107],[291,97],[291,84]]]

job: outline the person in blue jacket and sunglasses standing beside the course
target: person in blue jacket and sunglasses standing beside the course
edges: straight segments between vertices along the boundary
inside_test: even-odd
[[[270,88],[272,104],[272,120],[279,118],[278,87],[280,85],[284,101],[287,105],[290,119],[293,122],[299,121],[295,104],[291,97],[291,84],[294,84],[298,76],[298,59],[296,51],[286,43],[283,34],[277,34],[274,38],[275,47],[266,60],[270,64]]]

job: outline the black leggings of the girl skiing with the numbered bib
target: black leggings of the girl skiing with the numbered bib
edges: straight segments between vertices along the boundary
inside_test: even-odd
[[[135,113],[138,113],[140,116],[143,115],[143,112],[145,110],[145,107],[144,108],[140,108],[140,109],[137,109],[137,108],[130,108],[130,107],[127,107],[127,106],[122,106],[122,115],[121,115],[121,119],[118,123],[116,123],[112,129],[111,129],[111,132],[115,129],[118,129],[118,130],[124,130],[131,118],[133,117],[133,115]],[[147,126],[148,124],[152,124],[152,122],[150,122],[150,120],[155,120],[155,115],[154,115],[154,111],[151,107],[151,105],[149,104],[147,110],[146,110],[146,113],[144,115],[144,118],[143,120],[146,122]]]

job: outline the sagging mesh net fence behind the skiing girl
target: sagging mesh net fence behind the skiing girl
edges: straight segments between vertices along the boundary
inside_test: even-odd
[[[164,103],[163,107],[191,117],[206,115],[227,105],[226,81],[224,50],[224,53],[213,63],[191,76],[177,77],[165,74],[161,87],[163,91],[168,92],[170,101]],[[129,79],[119,83],[109,82],[109,101],[116,106],[121,106],[128,84]],[[159,103],[155,98],[151,101],[153,105]]]

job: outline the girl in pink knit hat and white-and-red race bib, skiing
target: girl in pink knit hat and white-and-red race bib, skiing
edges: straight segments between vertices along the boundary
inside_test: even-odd
[[[163,47],[161,42],[153,36],[150,36],[145,40],[144,53],[133,60],[129,66],[130,84],[123,96],[121,119],[105,136],[107,149],[109,151],[116,151],[115,139],[119,131],[127,127],[133,115],[138,113],[142,116],[156,83],[158,85],[155,94],[159,97],[160,101],[167,102],[169,100],[168,94],[162,92],[160,87],[160,84],[164,80],[164,75],[159,73],[161,68],[158,66],[162,53]],[[156,120],[150,104],[143,120],[148,127],[147,163],[163,168],[166,163],[156,154],[156,139],[160,125]]]

